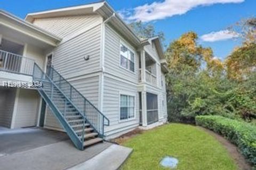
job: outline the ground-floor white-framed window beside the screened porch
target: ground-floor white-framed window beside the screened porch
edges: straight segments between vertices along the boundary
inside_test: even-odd
[[[120,95],[120,120],[134,117],[134,97]]]

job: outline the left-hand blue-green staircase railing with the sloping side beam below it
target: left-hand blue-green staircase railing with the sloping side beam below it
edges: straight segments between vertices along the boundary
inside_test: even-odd
[[[61,122],[63,128],[66,130],[67,134],[69,135],[70,139],[73,141],[74,145],[78,148],[83,150],[84,149],[84,135],[85,135],[85,117],[79,110],[75,107],[72,101],[59,89],[57,84],[55,84],[51,78],[46,75],[41,68],[35,64],[34,71],[33,71],[33,80],[34,81],[41,81],[42,87],[38,87],[38,91],[41,96],[44,98],[46,103],[50,106],[52,111],[55,113],[55,116],[58,117],[58,120]],[[60,101],[58,98],[54,100],[54,94],[61,94],[63,96],[62,100]],[[70,104],[70,105],[68,105]],[[82,124],[79,124],[82,129],[82,135],[79,135],[74,131],[71,125],[68,123],[67,119],[65,118],[65,113],[68,107],[72,106],[73,110],[77,111],[78,114],[84,117],[84,121]]]

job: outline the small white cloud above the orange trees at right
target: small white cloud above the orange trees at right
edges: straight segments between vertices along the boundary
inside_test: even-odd
[[[221,30],[217,32],[207,33],[200,37],[201,40],[206,42],[215,42],[215,41],[222,41],[232,38],[237,38],[239,35],[236,32],[232,32],[229,30]]]

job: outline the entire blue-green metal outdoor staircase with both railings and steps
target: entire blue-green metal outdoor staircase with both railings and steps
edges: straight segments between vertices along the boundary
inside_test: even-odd
[[[37,87],[52,113],[66,130],[76,148],[103,141],[104,126],[109,126],[108,118],[77,91],[52,67],[44,73],[35,64],[33,80],[42,82]]]

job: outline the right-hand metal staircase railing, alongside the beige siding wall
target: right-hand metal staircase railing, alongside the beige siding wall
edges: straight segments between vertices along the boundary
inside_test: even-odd
[[[100,137],[103,138],[105,136],[104,126],[109,126],[109,119],[55,69],[53,69],[53,67],[47,67],[47,75],[55,84],[57,84],[58,88],[66,94],[70,101],[74,103],[79,112],[81,112],[91,124],[92,128],[99,133]]]

